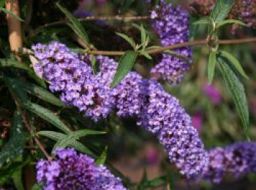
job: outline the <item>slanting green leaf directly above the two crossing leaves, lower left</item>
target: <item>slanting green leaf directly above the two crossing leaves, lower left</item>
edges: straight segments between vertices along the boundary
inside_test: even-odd
[[[44,108],[42,106],[39,106],[36,103],[29,103],[29,105],[26,106],[26,109],[33,112],[34,114],[37,114],[37,116],[41,117],[42,119],[45,119],[45,121],[50,122],[59,130],[62,130],[63,132],[71,132],[69,130],[69,127],[67,127],[64,122],[59,119],[58,116],[56,116],[52,111],[48,110],[47,108]]]

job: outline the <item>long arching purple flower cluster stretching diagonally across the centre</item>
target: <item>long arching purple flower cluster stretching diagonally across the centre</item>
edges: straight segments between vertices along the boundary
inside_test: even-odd
[[[120,84],[110,88],[118,65],[113,59],[97,56],[99,71],[93,74],[89,58],[70,52],[59,42],[37,44],[33,50],[39,60],[35,71],[50,82],[50,90],[61,93],[64,103],[78,107],[95,121],[110,111],[116,111],[118,116],[132,116],[138,125],[159,138],[170,162],[187,178],[203,170],[208,155],[197,130],[178,100],[156,80],[130,72]]]

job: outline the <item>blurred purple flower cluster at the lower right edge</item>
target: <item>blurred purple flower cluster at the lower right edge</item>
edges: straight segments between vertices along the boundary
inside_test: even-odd
[[[227,147],[208,151],[209,163],[203,169],[201,178],[220,183],[226,175],[241,178],[256,173],[256,143],[238,142]]]

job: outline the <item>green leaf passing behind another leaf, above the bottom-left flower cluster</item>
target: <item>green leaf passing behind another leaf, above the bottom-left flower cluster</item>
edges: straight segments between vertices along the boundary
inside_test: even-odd
[[[61,132],[54,132],[54,131],[40,131],[40,132],[37,132],[37,134],[45,136],[52,140],[56,140],[56,141],[62,140],[67,137],[67,135],[62,134]],[[82,143],[78,142],[77,140],[69,141],[67,146],[73,147],[74,149],[80,152],[83,152],[85,154],[89,154],[91,157],[96,157],[92,151],[90,151],[86,146],[84,146]]]

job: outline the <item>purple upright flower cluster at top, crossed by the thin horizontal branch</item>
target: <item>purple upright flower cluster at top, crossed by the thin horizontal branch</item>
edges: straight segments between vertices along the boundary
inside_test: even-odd
[[[151,20],[162,46],[189,40],[189,15],[181,6],[173,7],[172,4],[161,1],[161,4],[151,12]],[[174,51],[187,58],[188,61],[170,54],[163,54],[162,60],[151,69],[154,79],[162,79],[169,84],[176,84],[187,73],[192,50],[189,47],[180,47]]]

